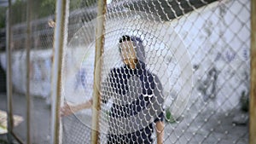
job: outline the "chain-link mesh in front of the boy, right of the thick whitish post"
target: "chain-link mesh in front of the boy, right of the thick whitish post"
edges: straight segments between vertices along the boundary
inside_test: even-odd
[[[102,143],[156,143],[161,133],[164,143],[248,142],[249,1],[107,3],[102,74],[95,77]],[[64,54],[63,94],[70,107],[93,93],[96,5],[84,9]],[[120,43],[125,35],[130,39]],[[125,66],[127,56],[137,57],[130,61],[134,68]],[[90,140],[91,110],[73,110],[88,135],[64,135]]]

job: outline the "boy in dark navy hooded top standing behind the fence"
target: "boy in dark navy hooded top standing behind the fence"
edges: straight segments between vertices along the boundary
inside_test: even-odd
[[[143,41],[139,37],[119,38],[119,52],[124,66],[113,68],[102,84],[103,103],[112,99],[108,116],[108,143],[153,143],[153,126],[157,143],[163,142],[164,97],[159,78],[148,72]],[[63,115],[89,108],[87,101],[78,106],[62,108]],[[72,110],[72,111],[71,111]]]

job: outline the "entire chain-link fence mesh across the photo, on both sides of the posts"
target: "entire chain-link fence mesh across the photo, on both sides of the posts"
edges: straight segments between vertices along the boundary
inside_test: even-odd
[[[94,124],[100,143],[248,143],[249,0],[109,0],[103,15],[95,0],[68,4],[61,143],[91,143]],[[24,118],[13,133],[21,142],[52,136],[54,13],[55,1],[11,6],[11,101]],[[91,106],[97,92],[100,108]]]

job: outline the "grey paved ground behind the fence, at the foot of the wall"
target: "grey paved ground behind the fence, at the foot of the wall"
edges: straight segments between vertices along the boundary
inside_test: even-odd
[[[26,99],[24,95],[13,95],[14,114],[24,120],[15,126],[16,135],[26,141]],[[6,95],[0,94],[0,110],[6,110]],[[237,123],[237,117],[247,120],[248,113],[241,113],[233,109],[229,113],[201,112],[193,119],[194,111],[186,113],[178,123],[168,124],[165,127],[165,143],[221,143],[221,144],[246,144],[248,143],[248,123]],[[44,99],[32,97],[32,143],[49,144],[50,134],[50,107]],[[87,119],[87,120],[86,120]],[[207,119],[207,120],[206,120]],[[62,119],[64,124],[62,143],[90,143],[90,117],[86,115],[69,116]],[[239,121],[239,120],[238,120]],[[88,122],[84,124],[83,122]],[[105,132],[108,132],[106,130]],[[106,141],[106,135],[102,134],[102,141]],[[3,141],[2,141],[3,140]],[[6,135],[0,135],[1,142],[7,140]]]

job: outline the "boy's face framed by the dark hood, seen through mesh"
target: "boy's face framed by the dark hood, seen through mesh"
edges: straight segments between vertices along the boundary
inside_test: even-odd
[[[137,55],[136,48],[133,46],[132,41],[124,41],[119,43],[119,47],[121,49],[121,56],[126,65],[131,65],[136,63]]]

